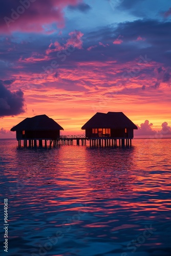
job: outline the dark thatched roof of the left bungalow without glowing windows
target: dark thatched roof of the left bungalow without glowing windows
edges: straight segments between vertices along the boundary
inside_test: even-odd
[[[47,115],[28,117],[11,128],[11,131],[56,131],[63,128]]]

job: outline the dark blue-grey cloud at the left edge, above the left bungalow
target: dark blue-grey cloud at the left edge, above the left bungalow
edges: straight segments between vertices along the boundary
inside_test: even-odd
[[[0,117],[24,113],[24,93],[22,90],[11,92],[5,84],[9,84],[9,80],[0,80]]]

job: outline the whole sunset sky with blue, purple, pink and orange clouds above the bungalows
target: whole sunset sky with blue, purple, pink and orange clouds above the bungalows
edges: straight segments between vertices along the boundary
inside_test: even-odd
[[[170,0],[1,1],[0,138],[41,114],[83,134],[109,111],[169,137],[170,29]]]

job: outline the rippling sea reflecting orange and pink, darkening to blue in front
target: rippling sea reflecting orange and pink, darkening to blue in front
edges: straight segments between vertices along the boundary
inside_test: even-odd
[[[171,255],[171,139],[47,150],[0,140],[0,169],[1,255]]]

